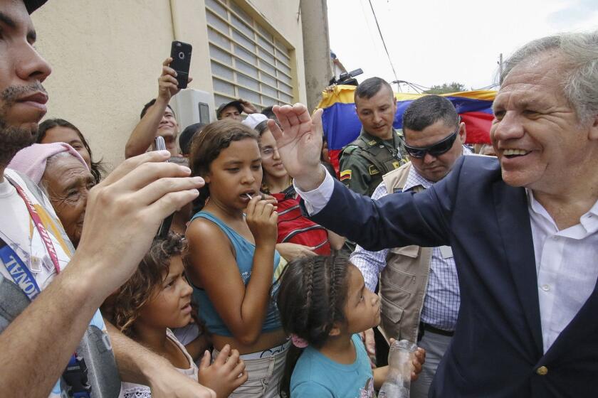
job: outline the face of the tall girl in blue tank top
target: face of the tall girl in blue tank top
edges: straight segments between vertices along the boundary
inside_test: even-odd
[[[246,208],[247,195],[259,193],[262,168],[258,141],[247,138],[232,141],[210,164],[204,177],[209,183],[210,200],[229,208]]]

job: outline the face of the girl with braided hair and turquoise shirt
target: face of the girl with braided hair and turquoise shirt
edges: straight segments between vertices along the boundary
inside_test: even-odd
[[[347,270],[349,284],[345,318],[348,333],[360,333],[380,323],[380,301],[377,294],[365,287],[362,273],[355,265]]]

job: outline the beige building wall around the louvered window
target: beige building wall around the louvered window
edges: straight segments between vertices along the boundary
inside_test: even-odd
[[[172,4],[171,4],[172,3]],[[295,100],[305,102],[299,0],[238,0],[295,50]],[[52,0],[33,14],[39,52],[53,72],[44,83],[47,117],[79,127],[109,168],[124,158],[145,102],[157,93],[173,39],[193,45],[189,87],[212,92],[203,0]],[[174,23],[174,26],[173,26]]]

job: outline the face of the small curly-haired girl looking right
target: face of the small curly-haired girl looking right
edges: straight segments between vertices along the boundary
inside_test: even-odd
[[[191,294],[193,289],[183,276],[181,256],[170,259],[170,270],[162,289],[141,308],[135,323],[155,328],[182,328],[191,321]]]

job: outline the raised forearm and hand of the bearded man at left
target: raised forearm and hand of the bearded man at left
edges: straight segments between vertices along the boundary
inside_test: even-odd
[[[189,168],[164,163],[168,157],[157,151],[130,158],[90,190],[80,243],[68,267],[0,334],[2,362],[12,369],[2,372],[0,385],[23,392],[20,396],[47,395],[104,298],[137,268],[160,222],[196,198],[203,179],[189,177]],[[32,372],[32,363],[43,366]],[[186,397],[209,396],[201,387]]]

